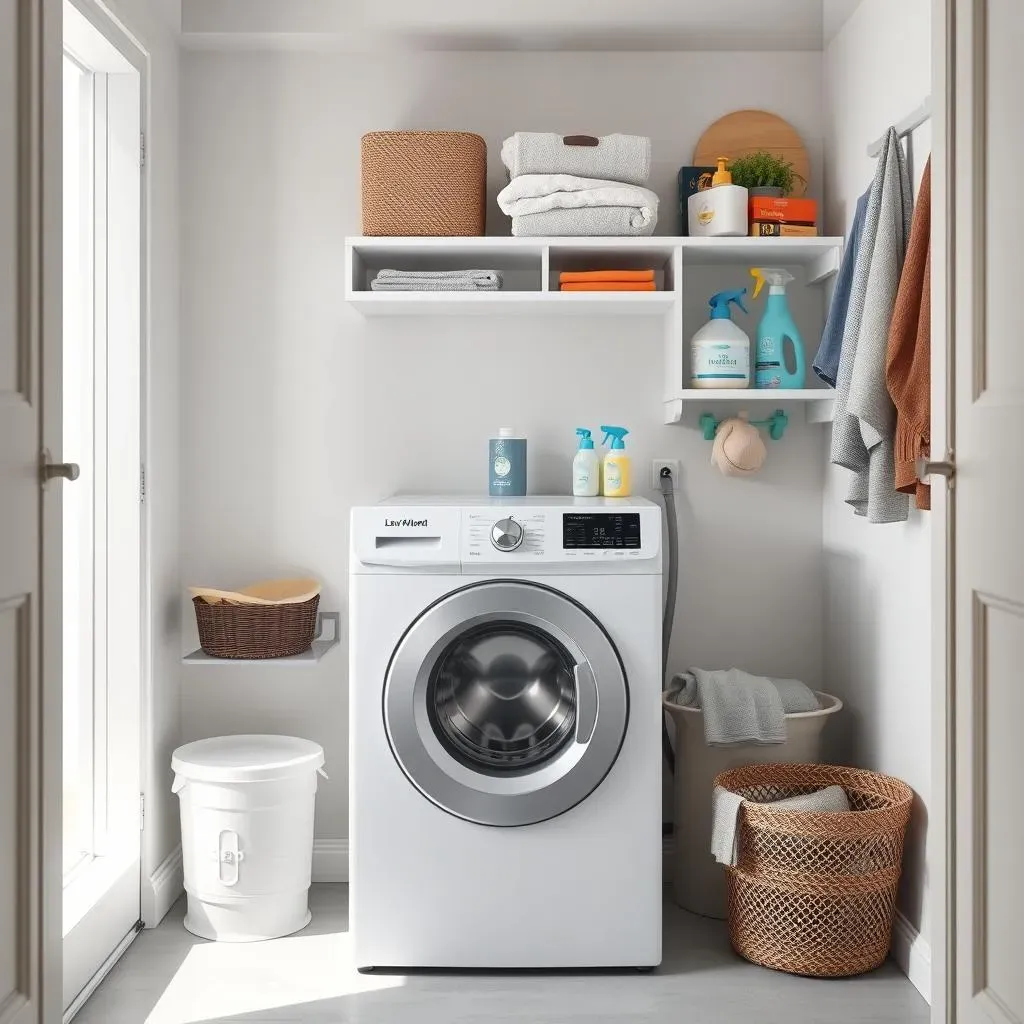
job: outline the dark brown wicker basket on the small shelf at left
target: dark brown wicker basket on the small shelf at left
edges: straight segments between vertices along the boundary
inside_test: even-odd
[[[208,604],[193,598],[200,646],[214,657],[287,657],[309,650],[319,594],[297,604]]]

